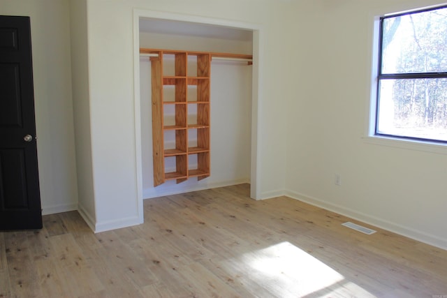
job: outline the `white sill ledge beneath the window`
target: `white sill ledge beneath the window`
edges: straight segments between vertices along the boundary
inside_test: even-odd
[[[380,137],[367,136],[362,137],[362,139],[364,142],[368,144],[447,155],[447,144],[445,143],[421,142],[417,140],[402,140],[395,137],[381,137],[381,136]]]

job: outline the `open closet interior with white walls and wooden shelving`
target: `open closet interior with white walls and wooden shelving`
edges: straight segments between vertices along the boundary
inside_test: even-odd
[[[145,198],[164,189],[172,191],[175,184],[188,191],[210,176],[204,180],[210,180],[207,185],[249,182],[251,33],[196,24],[191,25],[196,33],[179,35],[175,28],[188,29],[188,24],[164,21],[160,29],[153,26],[156,20],[149,20],[152,26],[145,21],[140,21]],[[235,37],[235,32],[244,37]],[[187,50],[179,49],[180,41]],[[150,141],[145,137],[147,128]],[[152,187],[159,187],[150,187],[149,174]],[[175,184],[162,186],[169,181]]]

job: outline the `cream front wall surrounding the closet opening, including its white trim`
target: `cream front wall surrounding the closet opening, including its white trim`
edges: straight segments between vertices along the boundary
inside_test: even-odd
[[[138,222],[138,185],[135,156],[133,92],[133,8],[215,17],[262,24],[263,82],[258,165],[261,194],[284,189],[286,89],[281,88],[281,61],[277,50],[286,39],[280,20],[282,3],[225,1],[105,1],[88,0],[91,145],[96,202],[96,230]],[[234,7],[237,6],[237,10]],[[271,146],[274,144],[274,146]]]

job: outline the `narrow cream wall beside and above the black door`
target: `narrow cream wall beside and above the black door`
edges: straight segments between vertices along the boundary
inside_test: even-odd
[[[31,17],[43,214],[76,209],[68,1],[2,0],[0,14]]]

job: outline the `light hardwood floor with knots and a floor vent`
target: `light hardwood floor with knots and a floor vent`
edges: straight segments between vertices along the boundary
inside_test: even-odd
[[[0,232],[0,297],[447,297],[447,251],[290,198],[251,200],[248,184],[144,206],[144,224],[110,232],[75,211]]]

